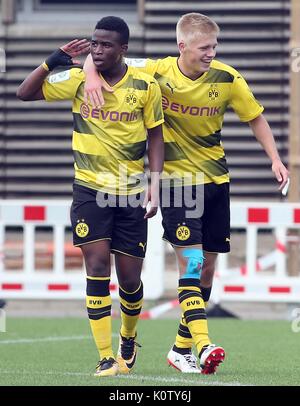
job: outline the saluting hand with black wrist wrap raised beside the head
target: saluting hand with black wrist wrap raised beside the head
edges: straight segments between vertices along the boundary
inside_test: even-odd
[[[61,48],[54,51],[45,61],[49,71],[52,71],[57,66],[71,66],[80,64],[80,61],[73,59],[78,55],[89,52],[90,44],[86,39],[68,42]]]

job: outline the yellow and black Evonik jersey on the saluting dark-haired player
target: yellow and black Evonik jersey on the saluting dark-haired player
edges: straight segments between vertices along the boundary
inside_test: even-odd
[[[101,109],[84,103],[84,82],[84,72],[72,68],[42,88],[47,101],[73,100],[75,183],[120,195],[142,191],[146,129],[164,121],[157,81],[129,66]]]

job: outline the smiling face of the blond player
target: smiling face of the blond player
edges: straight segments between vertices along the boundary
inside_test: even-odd
[[[216,56],[216,34],[200,34],[179,44],[180,56],[185,66],[195,72],[207,72]]]

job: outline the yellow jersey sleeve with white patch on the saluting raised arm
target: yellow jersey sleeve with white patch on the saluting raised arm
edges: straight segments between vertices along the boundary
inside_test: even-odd
[[[78,68],[72,68],[48,76],[42,87],[45,100],[51,102],[74,99],[78,86],[83,80],[84,73]]]

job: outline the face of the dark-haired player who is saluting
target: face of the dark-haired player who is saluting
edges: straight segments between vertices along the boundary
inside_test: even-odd
[[[116,31],[95,30],[91,41],[91,55],[99,72],[113,68],[127,51],[127,45],[121,45]]]

